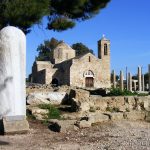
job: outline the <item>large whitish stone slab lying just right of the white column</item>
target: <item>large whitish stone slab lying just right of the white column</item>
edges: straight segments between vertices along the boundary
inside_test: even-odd
[[[65,96],[66,92],[34,92],[27,96],[27,103],[30,105],[61,104]]]

